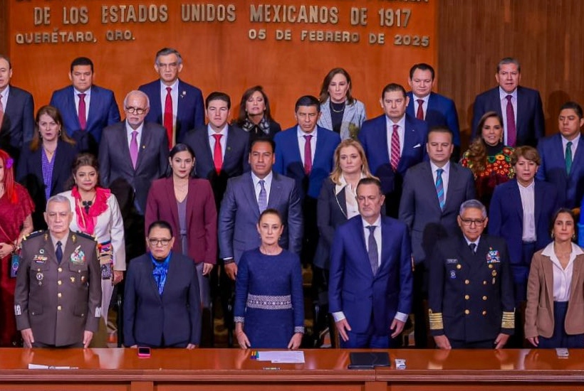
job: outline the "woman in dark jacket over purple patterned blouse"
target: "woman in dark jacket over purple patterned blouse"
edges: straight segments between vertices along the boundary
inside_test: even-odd
[[[55,107],[38,109],[35,123],[36,132],[31,144],[22,151],[16,178],[33,198],[33,226],[40,230],[46,228],[43,218],[46,200],[65,190],[77,150],[75,141],[63,129],[61,113]]]

